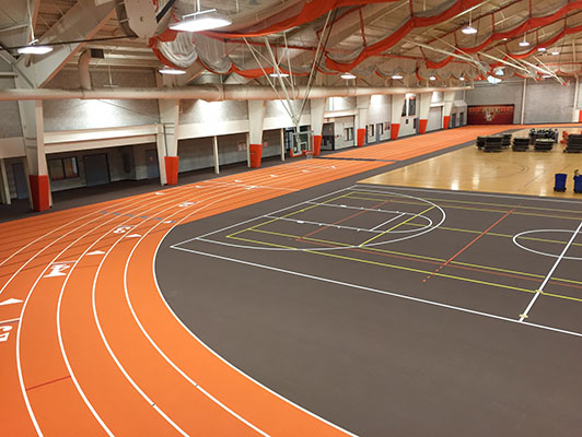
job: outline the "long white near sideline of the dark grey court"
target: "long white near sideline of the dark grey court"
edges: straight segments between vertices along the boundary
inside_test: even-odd
[[[280,273],[288,273],[288,274],[292,274],[292,275],[295,275],[295,276],[307,277],[307,279],[311,279],[311,280],[315,280],[315,281],[327,282],[327,283],[330,283],[330,284],[336,284],[336,285],[342,285],[342,286],[347,286],[347,287],[351,287],[351,288],[363,290],[365,292],[377,293],[377,294],[392,296],[392,297],[398,297],[398,298],[401,298],[401,299],[412,300],[412,302],[417,302],[417,303],[420,303],[420,304],[433,305],[433,306],[441,307],[441,308],[447,308],[447,309],[453,309],[453,310],[456,310],[456,311],[468,312],[468,314],[482,316],[482,317],[489,317],[489,318],[492,318],[492,319],[503,320],[503,321],[508,321],[508,322],[512,322],[512,323],[520,323],[520,321],[517,321],[515,319],[510,319],[509,317],[497,316],[497,315],[493,315],[493,314],[482,312],[482,311],[478,311],[478,310],[469,309],[469,308],[457,307],[457,306],[449,305],[449,304],[442,304],[442,303],[434,302],[434,300],[422,299],[420,297],[412,297],[412,296],[407,296],[407,295],[403,295],[403,294],[398,294],[398,293],[386,292],[384,290],[372,288],[372,287],[364,286],[364,285],[358,285],[358,284],[352,284],[352,283],[349,283],[349,282],[336,281],[336,280],[331,280],[331,279],[328,279],[328,277],[323,277],[323,276],[315,276],[315,275],[307,274],[307,273],[294,272],[294,271],[291,271],[291,270],[279,269],[279,268],[271,267],[271,265],[258,264],[256,262],[251,262],[251,261],[244,261],[244,260],[240,260],[240,259],[235,259],[235,258],[223,257],[221,255],[201,252],[199,250],[186,249],[186,248],[183,248],[183,247],[175,247],[174,249],[182,250],[182,251],[185,251],[185,252],[201,255],[203,257],[221,259],[221,260],[224,260],[224,261],[237,262],[237,263],[241,263],[241,264],[256,267],[256,268],[259,268],[259,269],[272,270],[272,271],[280,272]],[[552,327],[547,327],[547,326],[544,326],[544,324],[536,324],[536,323],[528,323],[528,322],[524,322],[524,323],[521,323],[521,324],[527,324],[527,326],[534,327],[534,328],[545,329],[545,330],[555,331],[555,332],[561,332],[561,333],[566,333],[566,334],[569,334],[569,335],[574,335],[574,336],[582,338],[582,333],[573,332],[573,331],[567,331],[567,330],[563,330],[563,329],[559,329],[559,328],[552,328]]]

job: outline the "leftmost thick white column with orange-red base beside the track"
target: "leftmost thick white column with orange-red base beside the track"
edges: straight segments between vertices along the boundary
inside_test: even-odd
[[[20,105],[23,120],[26,167],[28,169],[28,189],[32,208],[46,211],[50,208],[50,182],[45,154],[45,125],[43,101],[22,102]]]

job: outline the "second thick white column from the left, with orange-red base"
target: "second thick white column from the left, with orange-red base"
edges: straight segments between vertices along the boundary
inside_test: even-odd
[[[159,142],[160,180],[162,185],[162,170],[164,168],[165,184],[176,185],[178,182],[178,126],[179,126],[179,101],[160,99],[160,121],[162,125],[162,140]],[[160,153],[162,151],[162,153]],[[163,161],[163,162],[162,162]]]

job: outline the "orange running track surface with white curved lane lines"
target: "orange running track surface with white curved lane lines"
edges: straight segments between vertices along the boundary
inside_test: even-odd
[[[405,160],[503,129],[334,156]],[[191,334],[162,298],[153,261],[179,224],[387,164],[301,161],[0,224],[0,303],[22,300],[0,305],[1,434],[345,435]]]

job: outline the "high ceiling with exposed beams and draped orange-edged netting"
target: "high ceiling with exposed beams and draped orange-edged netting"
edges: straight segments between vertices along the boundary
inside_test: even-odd
[[[172,0],[152,1],[154,8],[139,13],[160,14]],[[295,83],[305,83],[313,70],[319,84],[342,84],[340,73],[349,71],[361,84],[398,86],[429,81],[459,84],[490,75],[556,80],[554,75],[581,70],[582,1],[201,0],[202,10],[216,8],[233,24],[194,35],[167,31],[168,24],[195,10],[193,0],[173,2],[150,34],[121,25],[126,15],[135,19],[135,12],[120,3],[2,2],[0,44],[7,50],[0,54],[12,63],[38,63],[40,68],[37,57],[19,59],[13,48],[26,45],[33,36],[39,43],[57,45],[81,40],[62,45],[67,52],[60,50],[50,68],[77,68],[84,49],[102,49],[102,56],[91,59],[90,69],[158,70],[165,63],[187,71],[167,80],[168,85],[207,81],[266,84],[272,79],[265,73],[273,71],[275,63]],[[91,8],[110,11],[100,15]],[[92,16],[103,20],[91,23]],[[461,32],[469,21],[478,31],[474,35]],[[520,45],[523,40],[529,45]],[[403,79],[392,78],[397,73]]]

